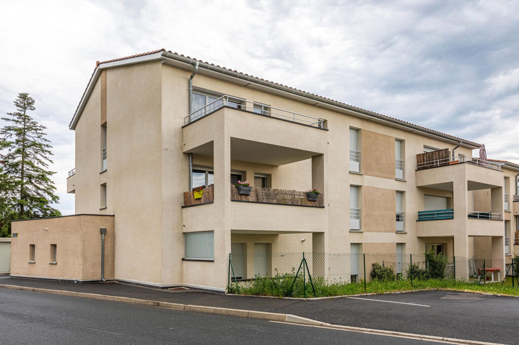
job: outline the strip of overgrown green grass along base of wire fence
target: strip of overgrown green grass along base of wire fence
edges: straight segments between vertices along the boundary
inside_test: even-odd
[[[303,278],[297,277],[292,293],[290,288],[294,281],[294,275],[286,274],[283,276],[260,278],[255,280],[239,283],[239,291],[236,289],[236,284],[229,286],[229,293],[239,293],[243,295],[255,296],[275,296],[275,297],[304,297]],[[508,277],[504,284],[501,282],[486,283],[482,285],[475,281],[456,281],[452,279],[429,279],[429,280],[414,280],[411,286],[411,280],[393,280],[393,281],[378,281],[372,280],[366,282],[366,290],[364,292],[364,282],[360,283],[327,283],[322,278],[313,280],[313,286],[316,294],[313,295],[312,287],[307,279],[306,282],[306,297],[327,297],[327,296],[342,296],[342,295],[356,295],[363,293],[385,293],[397,291],[410,291],[421,289],[453,289],[457,291],[478,291],[490,294],[519,296],[519,284],[515,282],[515,287],[512,287],[512,278]]]

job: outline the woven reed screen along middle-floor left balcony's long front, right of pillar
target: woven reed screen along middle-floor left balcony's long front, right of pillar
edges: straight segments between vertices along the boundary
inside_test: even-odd
[[[323,195],[319,194],[317,201],[309,201],[306,192],[252,187],[251,195],[240,195],[234,185],[230,186],[230,199],[233,201],[262,203],[262,204],[279,204],[279,205],[295,205],[295,206],[323,206]]]

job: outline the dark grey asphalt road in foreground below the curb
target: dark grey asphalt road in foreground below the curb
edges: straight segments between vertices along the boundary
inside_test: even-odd
[[[0,329],[2,344],[418,342],[407,338],[7,289],[0,289]]]

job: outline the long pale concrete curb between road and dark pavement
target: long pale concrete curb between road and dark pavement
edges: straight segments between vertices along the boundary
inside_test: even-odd
[[[191,311],[198,311],[198,312],[204,312],[204,313],[233,315],[233,316],[237,316],[237,317],[265,319],[265,320],[270,320],[270,321],[286,322],[286,323],[303,325],[303,326],[317,326],[317,327],[326,327],[326,328],[333,328],[333,329],[343,329],[343,330],[349,330],[350,332],[389,335],[389,336],[406,337],[406,338],[413,338],[413,339],[420,339],[420,340],[434,340],[434,341],[443,340],[443,341],[450,341],[450,342],[455,342],[455,343],[475,344],[475,345],[496,345],[497,344],[497,343],[490,343],[490,342],[483,342],[483,341],[476,341],[476,340],[454,339],[454,338],[447,338],[447,337],[436,337],[436,336],[429,336],[429,335],[396,332],[393,330],[352,327],[352,326],[344,326],[344,325],[333,325],[333,324],[326,323],[326,322],[320,322],[317,320],[298,317],[297,315],[272,313],[272,312],[266,312],[266,311],[195,306],[195,305],[190,305],[190,304],[184,305],[184,304],[179,304],[179,303],[160,302],[160,301],[148,300],[148,299],[89,294],[89,293],[72,292],[72,291],[66,291],[66,290],[40,289],[38,287],[26,287],[26,286],[18,286],[18,285],[0,284],[0,288],[11,289],[11,290],[33,291],[33,292],[40,292],[40,293],[50,293],[50,294],[75,296],[75,297],[85,297],[85,298],[93,298],[93,299],[101,299],[101,300],[110,300],[110,301],[114,301],[114,302],[130,303],[130,304],[143,305],[143,306],[154,306],[154,307],[168,308],[168,309],[174,309],[174,310],[191,310]],[[439,289],[429,289],[429,291],[430,290],[439,290]],[[413,290],[413,291],[415,291],[415,290]],[[413,291],[411,291],[411,292],[413,292]],[[455,291],[459,291],[459,290],[455,290]],[[373,294],[365,294],[365,295],[373,295]],[[356,295],[356,296],[362,296],[362,295]],[[347,297],[347,296],[337,296],[337,297]],[[335,297],[335,298],[337,298],[337,297]],[[320,299],[322,299],[322,298],[320,298]],[[499,344],[497,344],[497,345],[499,345]]]

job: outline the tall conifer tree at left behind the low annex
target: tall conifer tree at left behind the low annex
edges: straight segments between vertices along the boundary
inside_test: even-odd
[[[52,163],[49,140],[45,138],[45,126],[38,124],[29,115],[35,110],[34,98],[19,93],[14,104],[16,112],[2,118],[7,125],[0,130],[4,136],[6,154],[4,174],[14,187],[11,204],[18,219],[52,217],[61,213],[50,205],[58,202],[56,187],[47,170]],[[12,210],[11,210],[12,211]]]

